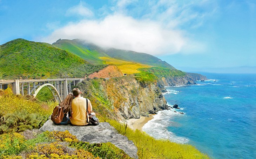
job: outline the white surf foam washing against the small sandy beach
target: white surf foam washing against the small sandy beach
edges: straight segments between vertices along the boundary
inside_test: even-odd
[[[173,116],[184,116],[184,114],[175,113],[172,110],[159,111],[154,118],[148,121],[143,127],[143,131],[156,139],[169,139],[171,142],[187,143],[189,139],[180,137],[167,130],[167,127],[173,124]]]

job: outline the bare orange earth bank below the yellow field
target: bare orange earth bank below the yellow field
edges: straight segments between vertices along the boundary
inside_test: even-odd
[[[109,78],[109,77],[121,77],[123,76],[122,71],[117,66],[109,65],[98,72],[90,74],[87,78]]]

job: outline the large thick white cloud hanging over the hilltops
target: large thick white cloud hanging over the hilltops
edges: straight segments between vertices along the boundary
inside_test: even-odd
[[[85,39],[103,47],[171,54],[181,51],[187,39],[182,31],[167,30],[154,21],[135,20],[123,15],[107,16],[103,20],[86,20],[55,30],[43,39],[53,43],[57,39]]]

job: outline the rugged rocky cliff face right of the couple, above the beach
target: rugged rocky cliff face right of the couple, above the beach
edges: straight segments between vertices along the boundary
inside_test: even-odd
[[[120,120],[140,118],[168,109],[157,83],[139,83],[132,75],[99,79],[86,79],[79,83],[82,96],[91,100],[96,113]]]

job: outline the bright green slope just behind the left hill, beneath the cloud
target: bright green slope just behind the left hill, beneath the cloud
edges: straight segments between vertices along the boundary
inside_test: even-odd
[[[68,52],[71,52],[75,55],[78,55],[80,58],[85,59],[86,61],[94,65],[102,65],[103,60],[99,59],[99,57],[109,57],[107,54],[97,51],[100,49],[99,47],[93,46],[92,44],[88,47],[88,44],[85,45],[82,41],[78,39],[60,39],[53,43],[53,45]]]

